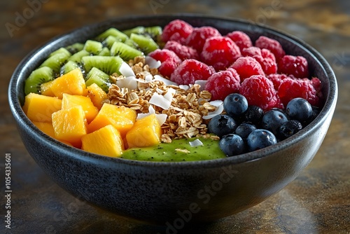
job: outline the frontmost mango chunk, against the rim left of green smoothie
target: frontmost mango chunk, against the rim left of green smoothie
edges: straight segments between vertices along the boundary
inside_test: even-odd
[[[84,135],[81,142],[81,149],[84,151],[104,156],[120,157],[124,150],[120,132],[112,125],[106,125],[104,128]]]

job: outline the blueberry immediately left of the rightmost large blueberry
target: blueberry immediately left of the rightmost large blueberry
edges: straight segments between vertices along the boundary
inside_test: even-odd
[[[277,135],[279,127],[287,121],[288,118],[282,111],[272,109],[267,111],[262,117],[261,126],[272,132],[274,135]]]

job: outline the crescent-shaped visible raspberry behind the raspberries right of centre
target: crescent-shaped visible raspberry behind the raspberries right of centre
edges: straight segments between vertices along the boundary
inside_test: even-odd
[[[260,49],[255,46],[244,48],[241,52],[243,56],[251,56],[258,61],[266,75],[277,72],[277,64],[274,54],[267,49]]]

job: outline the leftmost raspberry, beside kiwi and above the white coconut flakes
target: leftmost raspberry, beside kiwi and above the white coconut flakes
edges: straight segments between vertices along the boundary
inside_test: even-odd
[[[149,53],[148,56],[162,62],[158,71],[165,77],[170,77],[176,67],[181,63],[181,59],[172,50],[157,49]]]

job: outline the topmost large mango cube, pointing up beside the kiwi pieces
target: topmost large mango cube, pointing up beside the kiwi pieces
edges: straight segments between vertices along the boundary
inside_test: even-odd
[[[73,69],[52,81],[51,90],[56,97],[62,99],[64,93],[70,95],[87,95],[83,73],[79,68]]]

